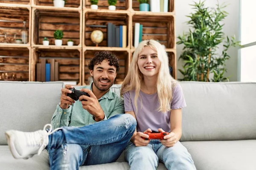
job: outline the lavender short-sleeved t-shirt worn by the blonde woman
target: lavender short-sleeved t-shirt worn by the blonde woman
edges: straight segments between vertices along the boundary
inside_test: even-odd
[[[137,100],[137,112],[134,105],[135,91],[128,91],[124,94],[125,112],[134,111],[137,119],[137,132],[144,132],[148,128],[156,132],[158,128],[170,132],[170,111],[166,111],[166,113],[157,111],[159,107],[157,96],[157,93],[145,94],[140,91]],[[172,110],[186,107],[180,84],[173,87],[172,96],[173,99],[170,102]]]

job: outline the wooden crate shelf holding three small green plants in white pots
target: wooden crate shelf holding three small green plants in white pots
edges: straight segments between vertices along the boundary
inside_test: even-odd
[[[46,10],[33,8],[32,11],[32,45],[42,45],[44,37],[49,39],[49,45],[55,45],[54,32],[63,31],[62,45],[72,39],[74,45],[81,46],[82,13],[78,11]]]

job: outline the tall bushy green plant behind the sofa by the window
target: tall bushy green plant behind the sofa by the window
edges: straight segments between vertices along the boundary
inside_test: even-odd
[[[226,37],[223,32],[222,21],[227,17],[224,4],[217,4],[216,8],[209,8],[204,2],[194,3],[189,16],[189,32],[178,36],[177,44],[183,44],[184,48],[179,57],[185,64],[181,81],[229,81],[229,77],[224,77],[227,72],[225,62],[230,59],[227,51],[230,47],[241,46],[235,37]],[[223,45],[221,54],[216,52],[219,45]],[[209,74],[213,74],[213,79],[209,79]]]

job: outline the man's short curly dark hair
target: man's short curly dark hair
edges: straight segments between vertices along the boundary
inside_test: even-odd
[[[119,61],[115,54],[111,53],[110,51],[97,51],[94,54],[93,59],[90,60],[88,65],[90,70],[93,70],[94,65],[100,64],[103,60],[107,60],[110,66],[114,66],[116,68],[116,72],[119,71]]]

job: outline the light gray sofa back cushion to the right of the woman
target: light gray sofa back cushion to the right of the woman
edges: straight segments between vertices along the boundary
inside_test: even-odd
[[[256,139],[256,83],[180,82],[181,141]]]

